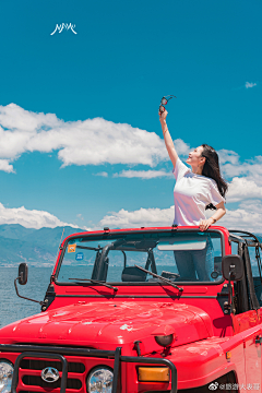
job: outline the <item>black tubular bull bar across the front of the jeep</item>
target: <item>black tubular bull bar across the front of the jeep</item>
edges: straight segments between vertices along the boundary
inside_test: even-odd
[[[69,347],[56,347],[56,346],[37,346],[37,345],[19,345],[19,344],[0,344],[1,353],[21,353],[15,362],[13,379],[11,385],[11,393],[16,393],[19,383],[19,369],[21,360],[25,357],[33,358],[48,358],[58,359],[62,362],[62,377],[60,393],[66,393],[67,378],[68,378],[68,360],[63,355],[69,356],[85,356],[85,357],[99,357],[99,358],[114,358],[114,377],[112,377],[112,390],[111,393],[117,393],[118,383],[120,380],[120,365],[121,362],[133,362],[143,365],[165,365],[171,370],[171,390],[170,393],[177,393],[177,368],[168,359],[152,358],[152,357],[135,357],[135,356],[122,356],[121,347],[117,347],[116,350],[102,350],[91,348],[69,348]]]

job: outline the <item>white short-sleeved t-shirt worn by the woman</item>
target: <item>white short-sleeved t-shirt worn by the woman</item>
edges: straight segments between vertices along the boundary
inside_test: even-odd
[[[176,178],[174,188],[175,221],[177,225],[199,225],[205,219],[205,206],[216,206],[225,199],[221,195],[216,181],[206,176],[195,175],[181,159],[172,169]]]

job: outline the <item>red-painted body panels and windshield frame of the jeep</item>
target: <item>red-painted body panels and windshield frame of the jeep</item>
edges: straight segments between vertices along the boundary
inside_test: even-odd
[[[126,361],[124,357],[169,360],[176,366],[176,390],[179,391],[191,389],[193,393],[194,389],[223,381],[224,376],[230,376],[230,381],[238,384],[238,391],[243,392],[248,384],[252,384],[255,385],[255,391],[261,392],[261,308],[227,314],[227,281],[177,283],[183,288],[181,293],[166,283],[118,283],[118,290],[115,291],[99,284],[66,285],[57,279],[69,240],[81,236],[95,238],[102,234],[105,238],[110,238],[112,234],[135,235],[170,230],[192,231],[199,228],[118,229],[82,233],[66,238],[59,250],[43,312],[0,330],[0,360],[5,358],[14,364],[20,354],[19,350],[14,352],[15,345],[19,348],[19,345],[29,344],[33,349],[34,346],[61,347],[61,353],[64,353],[69,362],[84,364],[85,372],[81,376],[69,372],[68,377],[80,379],[82,388],[79,391],[84,393],[90,370],[99,365],[114,369],[116,357],[114,360],[111,355],[108,358],[78,356],[67,354],[64,348],[91,348],[114,353],[120,347],[123,361],[120,361],[119,393],[160,392],[171,389],[171,380],[139,381],[139,364]],[[219,226],[212,226],[211,230],[222,236],[223,255],[230,255],[229,231]],[[234,287],[234,296],[235,290]],[[175,338],[168,348],[163,348],[155,336],[165,335],[165,332],[169,331]],[[138,342],[139,349],[135,344]],[[8,349],[9,345],[14,345],[10,347],[12,350]],[[28,373],[20,370],[16,391],[44,392],[35,385],[23,385],[23,376],[26,372]],[[39,376],[39,370],[33,374]],[[59,388],[52,391],[57,393]],[[75,393],[75,390],[68,388],[67,393]]]

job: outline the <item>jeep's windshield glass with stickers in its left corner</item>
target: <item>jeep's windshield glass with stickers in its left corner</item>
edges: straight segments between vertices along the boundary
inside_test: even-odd
[[[71,284],[75,278],[115,284],[159,282],[135,267],[139,265],[175,283],[218,282],[222,255],[216,231],[86,236],[68,242],[56,276],[57,282]]]

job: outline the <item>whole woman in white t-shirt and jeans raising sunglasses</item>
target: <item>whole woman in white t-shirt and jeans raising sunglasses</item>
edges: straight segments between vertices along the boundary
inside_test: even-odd
[[[221,176],[218,155],[215,150],[203,144],[189,153],[188,168],[178,157],[172,139],[166,123],[167,110],[159,112],[159,120],[168,155],[174,165],[176,186],[174,189],[175,221],[174,224],[188,226],[196,225],[200,230],[206,230],[226,214],[224,205],[227,183]],[[205,210],[214,209],[215,213],[205,218]],[[178,271],[181,277],[210,281],[213,248],[210,237],[206,247],[200,251],[176,251]],[[204,263],[203,263],[204,259]]]

